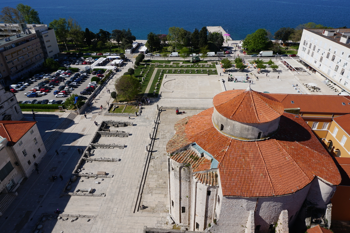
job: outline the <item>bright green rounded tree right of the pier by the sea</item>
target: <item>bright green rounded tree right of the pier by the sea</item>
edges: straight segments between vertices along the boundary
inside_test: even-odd
[[[244,39],[242,46],[249,51],[262,51],[271,47],[272,42],[267,37],[265,29],[258,29],[253,34],[249,34]]]

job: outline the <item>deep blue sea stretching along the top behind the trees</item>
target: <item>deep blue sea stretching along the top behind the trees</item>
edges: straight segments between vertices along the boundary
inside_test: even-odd
[[[83,30],[130,28],[137,39],[147,39],[149,32],[167,34],[174,26],[191,32],[221,26],[234,40],[259,28],[274,34],[308,22],[350,28],[350,0],[2,0],[0,8],[18,3],[37,10],[45,24],[72,17]]]

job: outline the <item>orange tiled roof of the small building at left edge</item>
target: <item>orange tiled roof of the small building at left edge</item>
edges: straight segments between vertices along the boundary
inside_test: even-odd
[[[36,124],[36,121],[0,121],[0,136],[14,145]]]

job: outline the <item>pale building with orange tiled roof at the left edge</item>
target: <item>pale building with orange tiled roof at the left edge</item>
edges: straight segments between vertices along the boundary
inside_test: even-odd
[[[0,121],[0,193],[14,191],[46,154],[35,121]],[[6,152],[6,153],[5,153]]]

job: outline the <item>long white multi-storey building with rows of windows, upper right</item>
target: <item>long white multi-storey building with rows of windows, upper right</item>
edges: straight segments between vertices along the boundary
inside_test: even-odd
[[[350,94],[350,29],[304,29],[298,56],[310,71]]]

